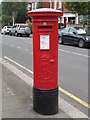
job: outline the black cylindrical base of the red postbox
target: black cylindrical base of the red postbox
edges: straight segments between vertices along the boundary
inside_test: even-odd
[[[33,87],[33,109],[43,115],[58,113],[58,88],[40,90]]]

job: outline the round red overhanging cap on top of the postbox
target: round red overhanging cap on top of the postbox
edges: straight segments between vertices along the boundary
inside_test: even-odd
[[[60,17],[63,15],[63,12],[61,10],[55,10],[51,8],[40,8],[40,9],[29,11],[27,14],[28,16],[31,16],[31,17],[40,17],[40,16]]]

